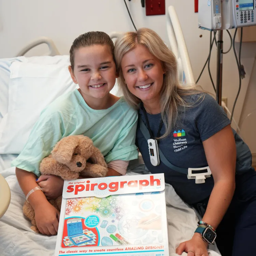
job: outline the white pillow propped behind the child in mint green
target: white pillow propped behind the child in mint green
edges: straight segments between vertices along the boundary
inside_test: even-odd
[[[40,58],[56,63],[55,57]],[[30,62],[12,63],[8,113],[0,123],[0,154],[19,154],[41,111],[60,95],[77,88],[70,77],[66,57],[62,56],[58,64],[39,64],[33,61],[35,57]]]

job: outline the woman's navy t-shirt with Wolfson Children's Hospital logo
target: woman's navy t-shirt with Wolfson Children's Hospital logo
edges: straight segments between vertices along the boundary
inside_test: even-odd
[[[200,96],[204,97],[199,99]],[[186,96],[185,100],[190,103],[196,102],[196,104],[194,107],[186,108],[186,110],[179,112],[179,121],[176,127],[167,138],[159,140],[158,145],[163,155],[165,155],[167,160],[174,166],[182,168],[206,167],[208,163],[202,142],[229,125],[230,120],[222,107],[208,94]],[[139,118],[142,118],[142,121],[146,125],[142,109],[139,110]],[[153,136],[157,137],[161,114],[151,115],[147,113],[147,118]],[[160,136],[164,133],[165,126],[163,125]],[[252,155],[248,146],[234,130],[233,133],[237,145],[236,171],[241,174],[244,171],[250,170]],[[151,164],[148,144],[140,130],[139,122],[136,145],[142,154],[147,169],[151,173],[164,173],[165,182],[171,184],[176,193],[186,203],[194,204],[210,196],[214,186],[212,175],[206,178],[205,183],[196,184],[194,179],[188,180],[186,174],[182,174],[167,167],[161,162],[161,159],[158,166]]]

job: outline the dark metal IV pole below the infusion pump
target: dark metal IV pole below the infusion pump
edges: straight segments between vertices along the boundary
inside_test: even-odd
[[[218,31],[217,41],[217,84],[216,84],[216,101],[219,105],[222,102],[222,65],[223,65],[223,30]]]

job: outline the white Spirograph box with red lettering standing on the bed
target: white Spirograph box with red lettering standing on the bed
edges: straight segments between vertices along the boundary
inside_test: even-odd
[[[55,256],[169,255],[163,174],[65,181]]]

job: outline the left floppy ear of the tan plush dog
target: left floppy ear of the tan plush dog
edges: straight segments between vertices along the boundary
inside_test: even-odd
[[[74,150],[78,144],[79,136],[71,135],[61,139],[53,148],[53,158],[66,165],[71,161]]]

